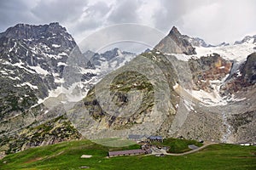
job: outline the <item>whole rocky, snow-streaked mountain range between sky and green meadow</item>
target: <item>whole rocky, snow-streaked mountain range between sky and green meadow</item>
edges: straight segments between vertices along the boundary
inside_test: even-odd
[[[212,46],[175,26],[137,55],[81,51],[58,23],[0,33],[0,152],[162,135],[255,142],[255,36]]]

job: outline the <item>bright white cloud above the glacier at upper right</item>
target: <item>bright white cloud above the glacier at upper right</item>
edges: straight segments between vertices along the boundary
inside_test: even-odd
[[[216,1],[183,15],[181,26],[187,34],[207,42],[235,42],[248,33],[256,33],[255,1]]]

